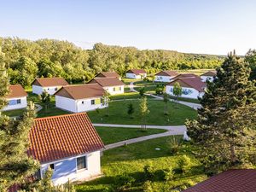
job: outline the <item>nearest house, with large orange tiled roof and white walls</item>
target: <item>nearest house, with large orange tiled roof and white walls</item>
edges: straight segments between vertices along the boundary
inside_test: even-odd
[[[29,142],[27,154],[40,162],[37,178],[49,168],[55,185],[102,174],[104,144],[86,113],[34,119]]]

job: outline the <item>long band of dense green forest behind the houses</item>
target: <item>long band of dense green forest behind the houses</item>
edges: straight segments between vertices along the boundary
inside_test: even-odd
[[[102,71],[124,75],[130,68],[143,68],[148,73],[156,73],[166,69],[215,68],[224,61],[224,56],[218,55],[105,44],[81,49],[70,42],[53,39],[0,38],[0,45],[11,84],[24,86],[32,84],[36,77],[63,77],[69,82],[78,82],[90,80]]]

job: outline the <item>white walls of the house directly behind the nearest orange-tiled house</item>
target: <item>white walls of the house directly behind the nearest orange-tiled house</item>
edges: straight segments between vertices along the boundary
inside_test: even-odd
[[[55,96],[55,106],[56,108],[61,108],[73,113],[91,111],[96,108],[106,108],[107,106],[103,106],[102,104],[91,105],[91,100],[98,98],[100,97],[73,100],[64,96]]]

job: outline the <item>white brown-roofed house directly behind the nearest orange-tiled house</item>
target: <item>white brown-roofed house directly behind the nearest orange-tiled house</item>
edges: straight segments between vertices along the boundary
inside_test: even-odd
[[[55,93],[55,106],[73,113],[107,108],[102,103],[104,89],[99,84],[68,85]]]

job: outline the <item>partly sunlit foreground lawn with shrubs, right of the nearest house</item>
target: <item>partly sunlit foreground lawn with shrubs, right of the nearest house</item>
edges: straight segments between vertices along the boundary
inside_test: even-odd
[[[105,151],[102,156],[102,172],[105,177],[76,185],[77,191],[116,191],[110,189],[113,188],[116,178],[120,175],[129,175],[135,178],[135,182],[125,191],[143,191],[143,183],[148,179],[143,173],[143,167],[147,165],[152,165],[154,170],[154,177],[150,178],[153,191],[175,191],[172,189],[179,189],[181,186],[184,189],[186,186],[204,180],[206,176],[202,171],[201,164],[192,154],[192,150],[195,149],[189,143],[183,143],[177,154],[171,154],[169,139],[170,137],[161,137]],[[155,150],[155,148],[160,148],[160,150]],[[184,174],[176,172],[171,181],[165,182],[160,171],[168,167],[177,169],[177,161],[182,154],[187,154],[191,159],[191,169]]]

